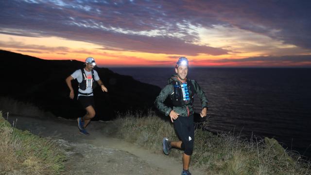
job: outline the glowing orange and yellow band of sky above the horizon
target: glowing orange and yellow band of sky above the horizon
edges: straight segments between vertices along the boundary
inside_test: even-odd
[[[261,42],[269,42],[275,49],[264,52],[260,48],[262,43],[253,42],[250,38],[242,41],[241,36],[221,36],[226,30],[223,27],[215,26],[214,30],[200,30],[201,43],[213,47],[229,48],[235,52],[223,55],[198,54],[196,56],[163,54],[163,53],[143,53],[133,51],[122,51],[106,49],[102,45],[74,41],[59,37],[27,37],[16,35],[0,34],[0,48],[11,52],[27,54],[42,59],[49,60],[78,60],[85,61],[85,58],[92,56],[97,64],[102,67],[169,67],[173,66],[180,56],[189,58],[192,66],[268,66],[269,62],[234,62],[235,59],[242,59],[256,56],[269,56],[270,53],[281,55],[280,49],[294,49],[295,52],[303,52],[296,46],[285,45],[271,38],[261,37]],[[232,30],[232,29],[231,29]],[[239,30],[237,30],[239,31]],[[238,34],[236,31],[236,34]],[[241,32],[241,31],[240,31]],[[259,36],[253,36],[260,38]],[[240,40],[239,40],[240,39]],[[262,46],[264,48],[270,45]],[[217,62],[217,60],[231,59],[232,62]],[[284,64],[284,63],[283,63]],[[305,63],[311,65],[309,62]],[[290,65],[290,64],[284,64]],[[297,64],[292,64],[296,66]]]

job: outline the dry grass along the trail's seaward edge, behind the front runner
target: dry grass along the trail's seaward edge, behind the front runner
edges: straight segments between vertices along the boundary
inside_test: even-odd
[[[163,137],[178,140],[173,125],[152,111],[148,115],[120,114],[114,123],[117,137],[155,153],[162,154]],[[169,156],[181,157],[182,153],[173,149]],[[202,129],[195,130],[190,168],[201,168],[208,175],[311,175],[311,163],[300,155],[277,151],[264,140],[214,135]]]

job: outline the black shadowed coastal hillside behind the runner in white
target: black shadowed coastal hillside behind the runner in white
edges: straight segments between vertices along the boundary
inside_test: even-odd
[[[84,63],[76,60],[44,60],[19,53],[0,51],[2,81],[0,96],[31,103],[52,112],[57,117],[75,119],[85,114],[77,102],[78,83],[69,99],[65,79]],[[94,120],[111,120],[118,112],[142,111],[153,108],[160,88],[141,83],[131,76],[120,75],[106,68],[95,68],[108,93],[97,87],[94,90],[96,117]],[[0,106],[1,107],[1,106]]]

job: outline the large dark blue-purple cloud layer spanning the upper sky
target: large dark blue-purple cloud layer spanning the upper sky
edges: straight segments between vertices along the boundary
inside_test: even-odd
[[[35,1],[35,0],[33,0]],[[221,55],[223,48],[193,44],[191,26],[234,26],[311,49],[311,2],[307,0],[50,0],[0,2],[0,33],[58,36],[110,50]],[[21,31],[21,29],[23,29]],[[142,35],[140,32],[151,32]]]

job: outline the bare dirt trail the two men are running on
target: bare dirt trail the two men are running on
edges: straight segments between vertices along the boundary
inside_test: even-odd
[[[11,115],[8,121],[57,142],[68,157],[64,175],[180,175],[182,170],[181,159],[109,137],[110,122],[92,122],[87,128],[90,136],[84,136],[78,133],[76,120]]]

